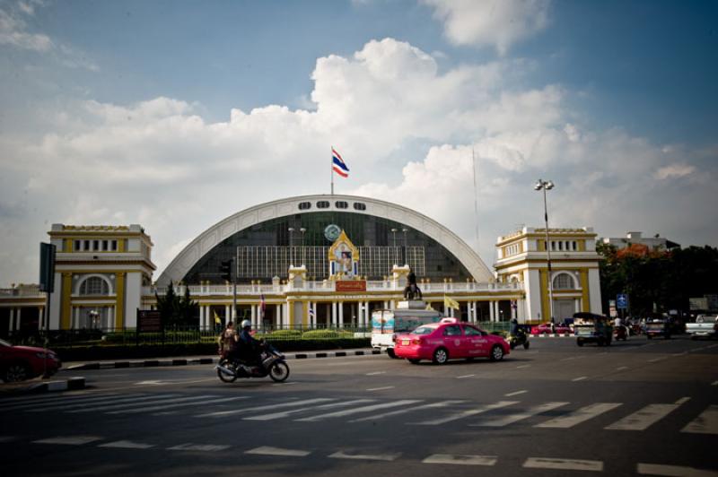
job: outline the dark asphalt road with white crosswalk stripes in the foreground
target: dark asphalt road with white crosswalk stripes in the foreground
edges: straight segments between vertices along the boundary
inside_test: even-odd
[[[290,360],[284,384],[82,371],[83,391],[0,399],[0,458],[4,475],[718,475],[717,357],[535,338],[501,362]]]

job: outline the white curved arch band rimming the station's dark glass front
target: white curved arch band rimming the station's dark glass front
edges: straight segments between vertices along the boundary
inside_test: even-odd
[[[316,203],[318,201],[328,201],[329,208],[317,209]],[[361,202],[366,205],[366,210],[358,211],[353,207],[337,209],[335,207],[335,202],[337,201]],[[311,202],[311,209],[299,210],[299,204],[302,202]],[[436,240],[442,247],[449,250],[457,257],[461,265],[467,268],[477,282],[490,282],[493,279],[493,273],[486,267],[481,257],[471,247],[468,247],[466,242],[439,222],[426,217],[422,213],[398,204],[356,195],[299,195],[258,204],[215,223],[215,225],[202,232],[197,239],[192,240],[171,261],[170,265],[160,275],[157,283],[164,286],[171,281],[179,282],[203,256],[206,256],[220,242],[241,230],[249,229],[253,225],[297,213],[330,211],[372,215],[407,225]]]

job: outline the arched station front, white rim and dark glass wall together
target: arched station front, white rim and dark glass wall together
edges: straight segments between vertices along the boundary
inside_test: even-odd
[[[220,262],[235,257],[237,250],[239,282],[285,278],[289,265],[299,264],[307,265],[310,276],[323,278],[328,271],[314,257],[326,255],[322,247],[331,245],[323,237],[329,224],[346,230],[358,247],[376,255],[363,254],[364,276],[381,278],[390,274],[392,264],[407,263],[430,279],[493,280],[474,250],[421,213],[367,197],[303,195],[259,204],[216,223],[175,257],[157,284],[219,282]],[[242,251],[255,256],[243,256]],[[262,268],[258,262],[275,268]]]

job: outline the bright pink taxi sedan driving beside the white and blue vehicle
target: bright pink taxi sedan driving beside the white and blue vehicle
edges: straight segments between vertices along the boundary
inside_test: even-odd
[[[456,318],[443,318],[439,323],[421,325],[409,334],[399,334],[394,353],[413,364],[420,360],[443,364],[451,359],[481,356],[498,361],[509,354],[509,343],[502,336],[488,334]]]

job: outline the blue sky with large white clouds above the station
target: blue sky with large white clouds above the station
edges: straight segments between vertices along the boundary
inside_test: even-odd
[[[53,223],[139,223],[156,280],[218,221],[337,194],[497,237],[718,246],[718,2],[0,0],[0,287]],[[476,186],[475,186],[476,184]]]

